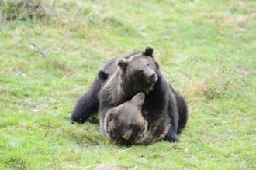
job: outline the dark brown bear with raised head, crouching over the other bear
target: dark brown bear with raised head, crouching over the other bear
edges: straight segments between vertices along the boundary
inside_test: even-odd
[[[71,121],[83,123],[99,108],[102,127],[109,109],[131,100],[139,92],[146,94],[142,113],[154,136],[157,131],[164,131],[163,124],[168,121],[171,127],[164,140],[179,141],[177,134],[188,120],[187,104],[164,79],[151,47],[109,61],[99,71],[91,89],[78,100]],[[105,135],[104,131],[102,134]]]

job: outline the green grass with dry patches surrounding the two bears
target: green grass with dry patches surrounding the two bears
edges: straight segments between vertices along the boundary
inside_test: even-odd
[[[256,168],[254,1],[52,2],[1,20],[0,169]],[[71,124],[99,68],[147,45],[189,102],[182,142],[118,146]]]

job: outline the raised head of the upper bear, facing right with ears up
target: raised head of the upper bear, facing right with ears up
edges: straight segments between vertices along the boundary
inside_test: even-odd
[[[131,56],[129,59],[117,60],[121,70],[123,85],[127,91],[149,93],[158,80],[159,64],[153,56],[153,48],[147,46],[142,53]]]

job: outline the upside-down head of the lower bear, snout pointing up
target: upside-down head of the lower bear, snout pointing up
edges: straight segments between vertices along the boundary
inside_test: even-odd
[[[132,100],[109,110],[104,128],[109,137],[123,145],[137,144],[147,131],[147,121],[141,114],[144,93],[137,93]]]

